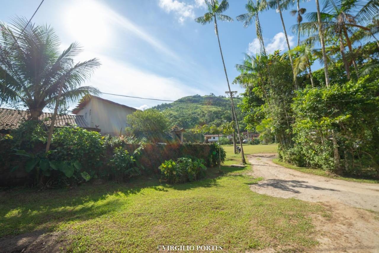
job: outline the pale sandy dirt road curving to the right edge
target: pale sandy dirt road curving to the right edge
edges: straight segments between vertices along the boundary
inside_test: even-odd
[[[273,163],[274,157],[275,154],[249,156],[253,176],[263,178],[251,185],[251,190],[321,202],[332,217],[313,217],[320,242],[316,252],[379,252],[379,184],[302,173]]]

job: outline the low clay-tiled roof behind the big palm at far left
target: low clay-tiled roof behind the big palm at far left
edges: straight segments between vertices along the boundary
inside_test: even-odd
[[[20,123],[27,120],[29,116],[28,111],[0,108],[0,130],[12,130],[17,129]],[[45,122],[47,126],[50,126],[53,113],[44,112],[39,116],[39,120]],[[79,115],[57,115],[54,126],[78,126],[82,128],[91,128],[87,126],[87,123],[83,116]]]

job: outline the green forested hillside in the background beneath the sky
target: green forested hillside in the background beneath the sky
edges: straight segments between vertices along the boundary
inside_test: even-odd
[[[235,104],[241,104],[241,97],[234,97]],[[200,96],[187,96],[178,99],[178,102],[164,103],[153,107],[158,109],[170,119],[172,126],[191,129],[197,124],[216,124],[224,121],[232,121],[232,108],[230,98],[215,96],[214,94]],[[241,113],[236,108],[237,116],[241,122],[240,129],[244,130],[243,118],[246,113]]]

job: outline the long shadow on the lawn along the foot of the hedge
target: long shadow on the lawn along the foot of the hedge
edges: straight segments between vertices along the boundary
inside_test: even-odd
[[[223,166],[229,173],[241,170]],[[157,176],[141,176],[132,182],[100,185],[86,184],[72,189],[51,189],[37,192],[34,189],[0,192],[0,238],[15,236],[42,229],[51,231],[61,223],[85,221],[117,212],[128,203],[131,195],[144,194],[143,189],[158,192],[190,190],[198,187],[217,187],[218,168],[209,168],[207,178],[185,184],[161,184]]]

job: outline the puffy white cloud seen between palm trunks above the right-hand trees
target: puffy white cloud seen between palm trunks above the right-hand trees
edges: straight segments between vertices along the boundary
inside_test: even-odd
[[[293,36],[288,35],[288,42],[290,43],[290,47],[294,45]],[[272,39],[270,39],[270,42],[268,44],[265,39],[265,48],[267,53],[273,53],[275,50],[280,50],[282,52],[287,51],[288,47],[284,33],[277,33]],[[258,52],[260,52],[260,43],[259,39],[255,38],[252,42],[249,43],[247,53],[256,54]]]

